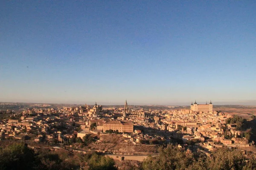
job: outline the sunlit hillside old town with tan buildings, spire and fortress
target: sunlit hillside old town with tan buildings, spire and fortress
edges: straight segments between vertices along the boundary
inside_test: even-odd
[[[242,118],[215,110],[209,101],[190,107],[133,106],[127,101],[111,107],[2,102],[0,139],[7,145],[24,142],[33,150],[64,150],[80,157],[98,152],[117,162],[118,169],[141,169],[148,156],[161,154],[158,147],[169,144],[186,156],[196,152],[210,157],[226,147],[254,159],[256,107],[237,106],[254,111]],[[77,168],[90,168],[80,159]]]

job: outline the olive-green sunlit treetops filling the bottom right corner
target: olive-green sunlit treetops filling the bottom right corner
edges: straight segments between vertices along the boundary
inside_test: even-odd
[[[174,145],[160,147],[160,155],[143,161],[143,170],[255,170],[256,160],[246,159],[239,150],[220,148],[206,156],[189,153]]]

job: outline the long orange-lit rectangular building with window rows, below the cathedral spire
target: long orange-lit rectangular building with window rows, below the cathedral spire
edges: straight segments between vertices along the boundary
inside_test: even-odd
[[[110,129],[118,130],[119,132],[133,132],[133,123],[123,121],[108,121],[103,123],[103,132]]]

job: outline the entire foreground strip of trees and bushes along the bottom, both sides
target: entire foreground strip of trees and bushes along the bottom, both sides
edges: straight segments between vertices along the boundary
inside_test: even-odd
[[[141,167],[125,167],[125,170],[255,170],[256,160],[247,159],[239,150],[227,147],[206,156],[199,150],[188,152],[175,145],[160,147],[159,155],[149,156]],[[65,150],[34,150],[26,144],[11,144],[0,148],[1,170],[116,170],[115,162],[99,153],[72,155]]]

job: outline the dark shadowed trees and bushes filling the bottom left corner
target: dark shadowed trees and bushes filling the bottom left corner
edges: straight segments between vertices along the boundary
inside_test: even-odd
[[[74,156],[65,150],[34,150],[26,144],[11,144],[0,148],[0,170],[114,170],[115,162],[109,157],[91,153]]]

